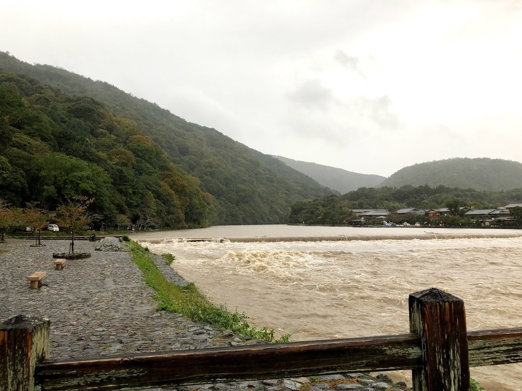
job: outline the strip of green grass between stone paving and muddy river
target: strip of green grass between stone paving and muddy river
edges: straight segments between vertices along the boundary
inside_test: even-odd
[[[230,312],[222,304],[215,304],[196,288],[193,283],[179,286],[166,280],[150,258],[147,248],[137,242],[129,243],[129,252],[134,263],[140,268],[147,285],[156,293],[159,301],[158,310],[180,313],[198,323],[205,323],[220,330],[230,329],[251,338],[270,343],[284,343],[290,340],[290,334],[276,339],[274,330],[266,327],[258,330],[248,324],[248,316],[238,311]]]

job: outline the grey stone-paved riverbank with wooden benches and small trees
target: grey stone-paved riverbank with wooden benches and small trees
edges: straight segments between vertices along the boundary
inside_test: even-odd
[[[87,259],[68,260],[55,270],[53,253],[67,252],[68,240],[32,241],[8,239],[0,244],[0,321],[19,314],[47,317],[51,321],[51,359],[75,359],[115,354],[204,349],[257,344],[230,331],[196,324],[180,314],[156,311],[152,290],[138,267],[115,238],[100,242],[77,241],[77,252],[90,252]],[[98,247],[98,251],[95,248]],[[155,255],[163,275],[179,285],[186,281]],[[30,289],[26,277],[47,272],[44,285]],[[310,391],[404,390],[386,375],[345,374],[310,378],[206,384],[188,387],[151,388],[179,391]]]

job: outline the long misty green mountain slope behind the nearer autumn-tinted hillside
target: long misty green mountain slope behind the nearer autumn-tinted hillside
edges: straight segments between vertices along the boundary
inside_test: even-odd
[[[215,197],[210,224],[284,223],[293,202],[332,193],[301,173],[289,171],[271,156],[215,129],[188,123],[157,104],[108,83],[49,65],[24,63],[3,52],[0,52],[0,69],[33,77],[75,99],[91,97],[104,111],[121,117],[120,121],[129,128],[150,137],[151,145],[164,150],[168,161],[180,172],[186,171],[197,178],[202,194]],[[74,136],[74,130],[71,132]],[[83,143],[78,141],[78,150],[84,151],[89,142],[89,138]]]

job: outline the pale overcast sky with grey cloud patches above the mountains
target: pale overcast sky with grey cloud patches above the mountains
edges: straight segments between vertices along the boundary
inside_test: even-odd
[[[267,154],[522,162],[520,0],[0,0],[0,50]]]

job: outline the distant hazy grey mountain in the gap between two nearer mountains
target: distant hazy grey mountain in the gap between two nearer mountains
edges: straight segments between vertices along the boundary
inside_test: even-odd
[[[288,157],[274,157],[277,157],[281,162],[284,162],[299,172],[315,179],[319,184],[337,190],[343,194],[351,190],[357,190],[360,187],[376,187],[386,179],[386,177],[380,175],[353,173],[342,168],[301,162],[289,159]]]

